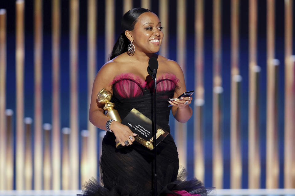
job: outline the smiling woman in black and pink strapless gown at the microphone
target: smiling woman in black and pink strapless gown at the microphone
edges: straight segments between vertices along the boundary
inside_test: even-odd
[[[177,62],[156,54],[163,40],[161,22],[148,9],[131,9],[124,14],[121,23],[123,32],[113,47],[110,61],[97,73],[93,83],[90,122],[107,130],[102,142],[100,159],[103,187],[95,179],[84,185],[84,195],[141,195],[152,194],[154,152],[135,142],[128,126],[104,115],[104,104],[98,103],[97,93],[101,89],[112,92],[112,103],[121,119],[135,108],[149,119],[152,116],[154,81],[147,73],[151,57],[159,62],[157,80],[157,124],[170,132],[169,114],[181,123],[192,115],[189,106],[191,97],[176,98],[186,91],[183,72]],[[115,139],[124,148],[116,149]],[[179,159],[175,142],[168,134],[157,145],[157,195],[207,195],[202,182],[197,179],[183,181],[185,171],[179,170]],[[188,193],[189,192],[189,193]]]

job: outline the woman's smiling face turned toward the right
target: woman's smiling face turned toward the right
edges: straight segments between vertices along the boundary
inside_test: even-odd
[[[155,13],[142,13],[131,31],[135,51],[158,52],[164,36],[161,29],[161,22]]]

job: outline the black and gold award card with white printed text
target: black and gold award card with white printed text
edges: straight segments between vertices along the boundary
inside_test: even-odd
[[[152,134],[152,122],[151,119],[140,113],[136,109],[132,109],[129,114],[122,120],[122,124],[128,126],[133,133],[136,133],[135,141],[144,145],[148,149],[154,149],[153,134]],[[169,134],[157,125],[156,142],[157,145]]]

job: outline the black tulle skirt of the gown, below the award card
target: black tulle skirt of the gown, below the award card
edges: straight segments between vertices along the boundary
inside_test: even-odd
[[[107,133],[103,139],[100,159],[100,180],[90,179],[81,195],[88,196],[151,196],[153,151],[134,142],[116,149],[115,136]],[[178,153],[169,134],[157,146],[157,195],[207,195],[203,183],[185,180],[187,173],[178,164]]]

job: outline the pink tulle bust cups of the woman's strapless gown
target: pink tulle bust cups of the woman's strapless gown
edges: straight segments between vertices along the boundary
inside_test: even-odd
[[[157,77],[157,92],[174,90],[179,79],[173,74],[163,74]],[[141,96],[144,92],[150,92],[154,81],[147,82],[139,76],[131,73],[117,75],[112,81],[112,88],[122,98]]]

